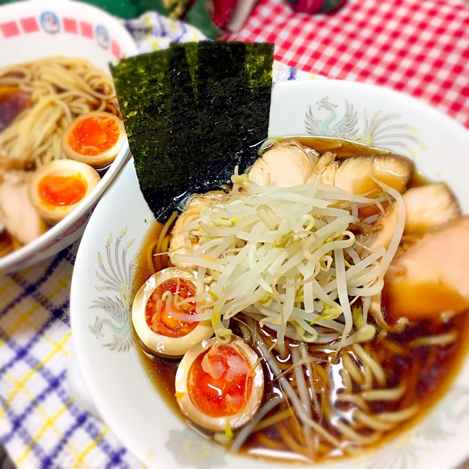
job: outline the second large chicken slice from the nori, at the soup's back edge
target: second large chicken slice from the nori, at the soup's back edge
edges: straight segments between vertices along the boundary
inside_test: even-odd
[[[352,194],[365,194],[380,189],[374,177],[402,193],[413,169],[412,161],[403,156],[352,156],[337,170],[334,185]]]

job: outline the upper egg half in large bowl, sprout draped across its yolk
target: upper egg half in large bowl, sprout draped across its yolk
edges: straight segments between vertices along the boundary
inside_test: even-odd
[[[195,344],[213,335],[211,319],[197,321],[197,273],[169,267],[152,275],[132,305],[132,323],[147,355],[182,357]],[[204,316],[210,310],[204,309]],[[177,317],[175,317],[177,316]],[[184,317],[187,317],[185,319]]]

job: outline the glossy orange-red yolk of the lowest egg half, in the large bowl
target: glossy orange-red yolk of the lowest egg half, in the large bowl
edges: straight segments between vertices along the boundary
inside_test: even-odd
[[[192,404],[209,417],[228,417],[246,406],[251,366],[233,345],[215,344],[192,362],[187,388]]]

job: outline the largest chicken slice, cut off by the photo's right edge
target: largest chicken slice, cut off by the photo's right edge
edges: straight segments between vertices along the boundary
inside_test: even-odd
[[[384,277],[387,318],[433,319],[469,308],[469,217],[427,232]]]

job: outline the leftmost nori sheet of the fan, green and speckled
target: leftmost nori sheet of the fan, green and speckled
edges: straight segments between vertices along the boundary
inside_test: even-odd
[[[152,52],[111,69],[140,188],[165,220],[203,170],[201,130],[184,49]]]

